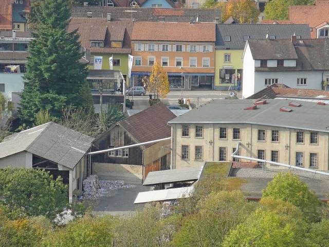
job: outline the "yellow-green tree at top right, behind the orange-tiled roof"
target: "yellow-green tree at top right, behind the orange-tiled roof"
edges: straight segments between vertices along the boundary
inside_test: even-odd
[[[290,5],[314,5],[315,0],[271,0],[265,4],[266,20],[287,20]]]

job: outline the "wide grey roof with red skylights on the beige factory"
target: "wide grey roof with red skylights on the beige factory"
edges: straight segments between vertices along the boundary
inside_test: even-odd
[[[253,100],[212,100],[169,121],[174,123],[249,123],[329,132],[329,105],[300,101],[299,107],[291,107],[293,100],[267,99],[255,110],[244,110],[254,105]],[[280,111],[280,108],[290,112]]]

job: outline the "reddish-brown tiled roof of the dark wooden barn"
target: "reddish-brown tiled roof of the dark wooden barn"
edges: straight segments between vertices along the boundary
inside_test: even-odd
[[[172,113],[166,105],[160,102],[144,111],[119,121],[118,124],[129,132],[137,142],[143,143],[150,140],[170,137],[171,127],[167,125],[167,122],[175,117],[176,115]],[[153,144],[144,146],[152,145]]]

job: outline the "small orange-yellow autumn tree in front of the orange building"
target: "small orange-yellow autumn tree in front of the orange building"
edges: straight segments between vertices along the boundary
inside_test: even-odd
[[[168,74],[157,60],[152,66],[152,73],[150,79],[147,80],[147,86],[148,90],[154,94],[154,99],[159,99],[159,96],[165,98],[169,93]]]

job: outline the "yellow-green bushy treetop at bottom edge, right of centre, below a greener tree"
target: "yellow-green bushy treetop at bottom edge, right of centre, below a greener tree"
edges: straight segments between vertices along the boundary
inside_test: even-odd
[[[273,211],[258,209],[225,237],[222,246],[305,246],[304,234],[294,219],[286,222]]]

